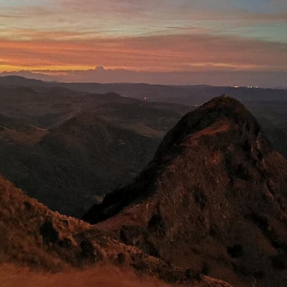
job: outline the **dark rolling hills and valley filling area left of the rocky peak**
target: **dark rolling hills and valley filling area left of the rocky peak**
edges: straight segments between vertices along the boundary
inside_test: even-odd
[[[133,179],[190,110],[115,93],[3,86],[0,173],[51,210],[80,217]]]

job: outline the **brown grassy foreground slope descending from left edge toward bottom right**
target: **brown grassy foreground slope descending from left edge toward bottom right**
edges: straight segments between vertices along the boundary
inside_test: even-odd
[[[123,286],[124,282],[133,279],[131,273],[128,273],[126,281],[121,273],[117,281],[115,277],[108,277],[108,270],[113,272],[113,266],[120,266],[132,269],[144,278],[157,278],[172,284],[228,287],[224,282],[197,274],[191,269],[173,267],[83,221],[52,212],[2,177],[0,230],[1,286],[75,286],[71,280],[73,277],[78,284],[82,280],[81,286],[93,286],[93,282],[98,286]],[[31,268],[33,272],[23,267]],[[44,271],[46,275],[36,271]],[[60,271],[63,273],[49,276],[50,272]],[[87,276],[91,276],[90,280]]]

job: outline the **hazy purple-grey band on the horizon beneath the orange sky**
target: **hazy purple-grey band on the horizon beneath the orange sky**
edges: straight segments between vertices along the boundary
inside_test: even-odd
[[[2,72],[0,76],[21,76],[45,81],[148,83],[163,85],[220,85],[220,86],[286,86],[287,72],[208,71],[208,72],[142,72],[96,67],[91,70],[38,70]]]

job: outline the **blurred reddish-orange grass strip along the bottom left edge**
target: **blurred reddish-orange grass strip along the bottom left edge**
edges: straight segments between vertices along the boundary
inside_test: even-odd
[[[57,274],[31,272],[13,265],[0,266],[0,287],[171,287],[157,279],[136,277],[115,267],[69,269]]]

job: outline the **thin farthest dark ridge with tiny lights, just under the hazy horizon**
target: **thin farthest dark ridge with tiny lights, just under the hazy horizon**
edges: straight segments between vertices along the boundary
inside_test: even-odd
[[[0,77],[0,85],[19,85],[34,88],[61,87],[78,92],[118,93],[146,101],[175,102],[201,105],[214,96],[232,95],[240,101],[287,101],[287,90],[208,85],[151,85],[146,83],[65,83],[47,82],[18,76]]]

